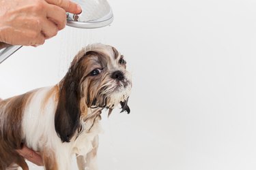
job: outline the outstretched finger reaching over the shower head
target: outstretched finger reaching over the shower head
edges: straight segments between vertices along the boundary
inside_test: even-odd
[[[82,12],[81,6],[70,0],[46,0],[46,2],[52,5],[57,5],[63,8],[66,12],[72,14],[80,14]]]

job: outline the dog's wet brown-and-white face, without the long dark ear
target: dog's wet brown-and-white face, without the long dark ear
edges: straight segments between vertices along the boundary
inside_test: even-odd
[[[81,105],[113,109],[127,101],[132,86],[130,73],[126,71],[124,56],[115,48],[106,46],[99,51],[85,52],[80,60]]]

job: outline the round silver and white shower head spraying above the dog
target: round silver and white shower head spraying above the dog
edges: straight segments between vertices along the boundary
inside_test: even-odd
[[[113,12],[106,0],[73,0],[81,5],[81,14],[67,13],[67,25],[81,29],[105,27],[113,22]]]

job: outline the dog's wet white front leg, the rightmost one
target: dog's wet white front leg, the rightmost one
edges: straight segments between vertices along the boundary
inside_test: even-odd
[[[78,156],[76,158],[79,170],[97,170],[97,151],[98,151],[98,135],[94,138],[92,145],[94,148],[87,154],[87,156]]]

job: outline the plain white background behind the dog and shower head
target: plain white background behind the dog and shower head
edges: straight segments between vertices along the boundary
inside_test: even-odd
[[[110,27],[66,27],[2,63],[0,97],[56,84],[82,46],[110,44],[133,89],[130,115],[102,120],[100,169],[256,169],[256,2],[109,2]]]

